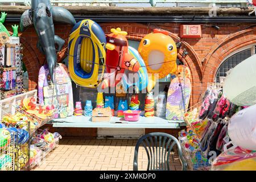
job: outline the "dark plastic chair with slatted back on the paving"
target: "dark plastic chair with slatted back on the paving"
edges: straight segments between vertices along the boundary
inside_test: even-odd
[[[143,146],[147,153],[148,171],[170,171],[170,154],[174,145],[177,144],[177,151],[182,165],[182,170],[187,170],[179,141],[167,133],[149,133],[139,138],[133,160],[133,170],[138,171],[138,152],[139,146]]]

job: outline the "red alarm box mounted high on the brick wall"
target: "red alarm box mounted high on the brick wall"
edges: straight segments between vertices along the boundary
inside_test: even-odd
[[[180,25],[181,38],[196,38],[202,37],[201,25],[195,24],[181,24]]]

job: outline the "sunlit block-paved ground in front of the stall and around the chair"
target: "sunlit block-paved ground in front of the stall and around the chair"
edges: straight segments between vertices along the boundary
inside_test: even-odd
[[[133,171],[137,140],[61,139],[36,171]],[[171,154],[171,170],[180,171],[176,148]],[[138,169],[147,169],[147,154],[139,148]]]

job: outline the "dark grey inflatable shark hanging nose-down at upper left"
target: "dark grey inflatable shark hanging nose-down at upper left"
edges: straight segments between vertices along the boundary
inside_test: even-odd
[[[31,9],[25,11],[20,18],[20,30],[34,24],[38,35],[37,48],[46,55],[46,60],[53,81],[53,69],[57,62],[57,52],[61,50],[65,41],[55,35],[53,22],[76,24],[73,15],[63,7],[52,7],[49,0],[32,0]]]

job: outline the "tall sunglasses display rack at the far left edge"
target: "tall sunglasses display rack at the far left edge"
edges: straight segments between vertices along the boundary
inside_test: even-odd
[[[1,100],[24,92],[21,44],[0,45]]]

